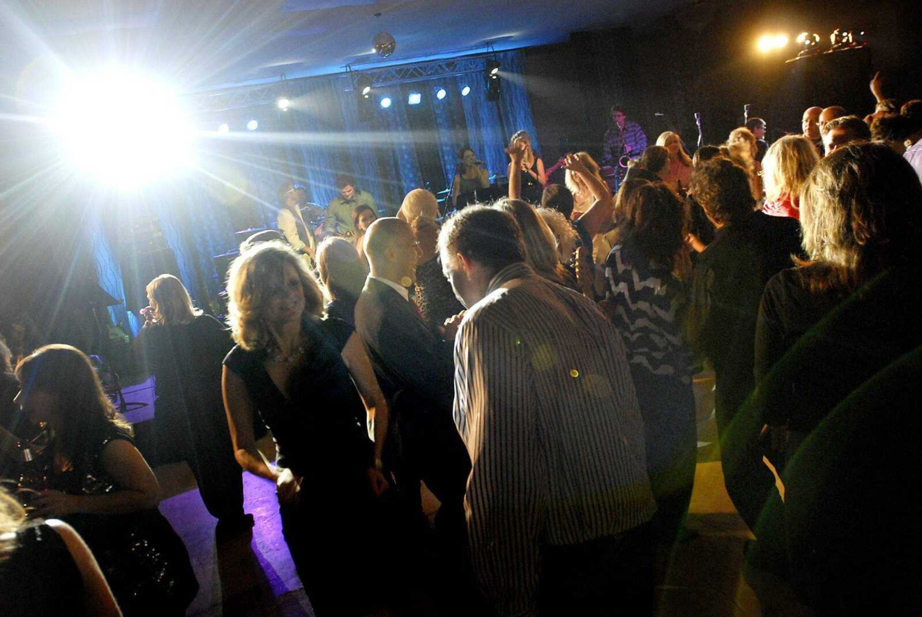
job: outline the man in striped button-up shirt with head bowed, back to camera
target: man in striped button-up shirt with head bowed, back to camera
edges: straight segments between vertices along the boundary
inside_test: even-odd
[[[500,615],[649,612],[656,505],[621,338],[594,303],[526,266],[508,214],[466,208],[439,247],[467,306],[454,413],[485,596]]]

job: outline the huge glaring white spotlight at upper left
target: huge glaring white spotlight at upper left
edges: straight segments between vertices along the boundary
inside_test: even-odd
[[[68,79],[51,125],[77,169],[137,187],[192,163],[194,131],[166,84],[113,68]]]

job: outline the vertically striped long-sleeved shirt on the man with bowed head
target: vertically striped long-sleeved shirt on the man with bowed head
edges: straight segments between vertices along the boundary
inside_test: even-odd
[[[465,509],[498,614],[535,614],[544,544],[614,536],[656,511],[621,337],[596,305],[503,268],[455,338],[455,424],[471,457]]]

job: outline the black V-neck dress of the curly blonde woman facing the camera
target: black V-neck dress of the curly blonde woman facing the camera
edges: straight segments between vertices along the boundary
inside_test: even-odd
[[[380,589],[371,533],[377,527],[367,478],[372,442],[365,408],[341,353],[352,327],[335,318],[305,317],[304,359],[289,378],[289,397],[266,372],[266,350],[237,346],[224,360],[272,432],[278,467],[301,476],[296,504],[279,509],[301,583],[318,615],[359,614]],[[381,564],[384,565],[384,564]]]

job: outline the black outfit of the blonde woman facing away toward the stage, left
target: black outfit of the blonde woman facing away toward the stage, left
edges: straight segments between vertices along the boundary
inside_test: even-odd
[[[221,397],[231,335],[199,315],[184,325],[145,327],[141,340],[157,377],[158,463],[188,461],[208,512],[232,525],[243,516],[243,481]]]

